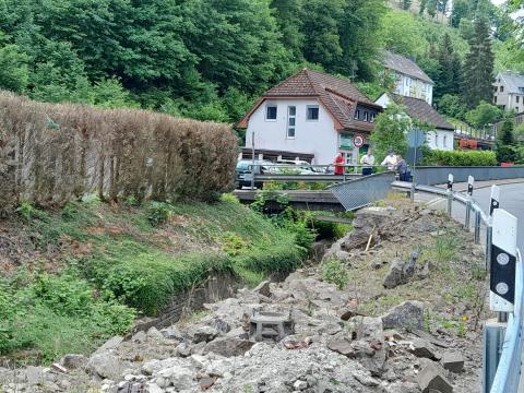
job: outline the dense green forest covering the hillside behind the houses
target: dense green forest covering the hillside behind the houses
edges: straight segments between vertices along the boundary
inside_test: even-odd
[[[412,1],[398,1],[401,10],[388,3],[0,0],[0,88],[227,122],[303,66],[388,87],[378,71],[389,48],[415,58],[436,98],[462,95],[457,81],[480,20],[493,32],[496,67],[522,69],[515,25],[489,0],[454,1],[449,21],[449,1],[421,1],[417,15],[405,11]]]

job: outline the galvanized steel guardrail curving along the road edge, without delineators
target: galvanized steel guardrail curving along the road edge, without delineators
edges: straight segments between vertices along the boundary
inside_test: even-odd
[[[443,182],[443,181],[441,181]],[[412,183],[407,182],[393,182],[393,187],[412,190]],[[450,184],[449,184],[450,187]],[[471,190],[473,193],[473,182],[471,183]],[[490,282],[493,283],[493,269],[502,267],[504,269],[508,262],[499,262],[498,257],[500,253],[505,254],[504,258],[508,258],[511,254],[511,251],[502,249],[496,253],[495,248],[499,247],[496,245],[493,248],[493,219],[491,213],[495,209],[498,209],[499,201],[493,199],[493,192],[491,194],[491,207],[490,214],[487,214],[483,211],[480,205],[468,194],[462,194],[452,191],[451,188],[448,190],[432,187],[432,186],[415,186],[415,190],[421,192],[429,192],[437,195],[448,198],[448,213],[452,213],[452,202],[457,201],[463,203],[466,206],[466,217],[464,222],[464,227],[469,228],[469,218],[471,213],[475,213],[474,222],[474,235],[475,243],[480,242],[480,226],[484,224],[486,226],[486,265],[490,266]],[[507,212],[504,212],[509,215]],[[511,216],[511,215],[510,215]],[[512,217],[515,222],[516,218]],[[497,228],[497,227],[496,227]],[[514,246],[516,245],[516,231],[510,233],[508,228],[508,234],[505,234],[507,228],[500,228],[503,233],[504,239],[508,237],[514,237]],[[511,247],[510,247],[511,248]],[[515,246],[516,249],[516,246]],[[512,306],[512,311],[501,312],[500,310],[508,307],[508,303],[503,305],[502,308],[499,308],[498,301],[493,300],[499,297],[499,294],[493,293],[492,285],[490,286],[490,307],[493,311],[498,311],[498,321],[491,322],[488,321],[484,327],[484,366],[483,366],[483,392],[484,393],[521,393],[524,392],[524,374],[523,374],[523,359],[524,359],[524,261],[519,249],[516,249],[515,255],[515,273],[514,277],[508,277],[512,279],[514,284],[514,302]],[[511,257],[509,257],[511,261]],[[500,265],[499,265],[500,264]],[[497,283],[497,282],[496,282]],[[500,297],[499,297],[500,299]],[[504,301],[502,299],[502,301]]]

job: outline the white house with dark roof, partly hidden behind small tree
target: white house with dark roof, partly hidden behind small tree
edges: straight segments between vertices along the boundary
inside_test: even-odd
[[[427,132],[429,148],[443,151],[452,151],[454,148],[455,127],[446,121],[426,100],[384,93],[376,100],[376,104],[386,108],[392,102],[403,106],[406,115],[412,120],[417,120],[434,128],[432,131]]]

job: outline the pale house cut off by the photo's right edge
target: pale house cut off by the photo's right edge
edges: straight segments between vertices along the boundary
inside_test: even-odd
[[[524,75],[499,72],[493,83],[493,104],[507,111],[524,112]]]

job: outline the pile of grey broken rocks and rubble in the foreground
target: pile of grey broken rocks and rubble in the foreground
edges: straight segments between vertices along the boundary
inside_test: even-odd
[[[360,217],[367,223],[360,228],[373,228],[382,240],[391,238],[385,228],[401,219],[394,210],[368,210]],[[402,219],[412,223],[412,233],[436,230],[427,217]],[[347,245],[362,247],[369,235],[357,227],[329,253],[347,261],[353,258]],[[395,285],[380,282],[379,289],[413,279],[420,273],[417,258],[390,263],[385,275]],[[204,305],[207,312],[198,321],[114,337],[90,357],[71,354],[48,368],[0,369],[0,383],[9,393],[478,391],[476,344],[425,331],[432,305],[402,299],[370,315],[357,307],[355,293],[319,276],[310,267],[283,283],[239,289],[235,297]]]

